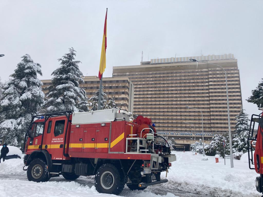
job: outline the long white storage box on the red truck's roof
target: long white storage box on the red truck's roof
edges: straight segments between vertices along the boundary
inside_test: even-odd
[[[127,111],[118,109],[108,109],[90,112],[75,112],[72,115],[72,125],[121,120],[129,121],[129,114]]]

